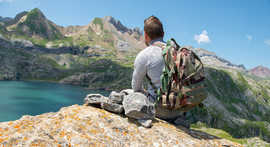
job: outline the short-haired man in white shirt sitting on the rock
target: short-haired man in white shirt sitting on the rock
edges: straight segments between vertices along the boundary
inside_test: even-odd
[[[147,74],[157,89],[161,87],[160,76],[162,75],[162,69],[165,67],[165,61],[161,56],[162,49],[152,45],[159,43],[165,46],[166,42],[163,41],[164,31],[162,23],[154,15],[144,21],[143,29],[147,48],[142,50],[135,59],[132,88],[134,92],[144,94],[151,103],[155,103],[157,101],[157,94],[154,93],[155,89],[148,82],[147,92],[143,88],[143,81]],[[190,123],[183,117],[182,111],[165,108],[159,103],[156,109],[156,117],[177,125],[190,127]]]

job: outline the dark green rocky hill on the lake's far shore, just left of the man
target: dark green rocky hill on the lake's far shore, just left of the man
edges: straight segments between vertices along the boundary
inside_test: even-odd
[[[121,91],[131,86],[133,69],[122,67],[108,59],[99,59],[90,63],[88,71],[75,73],[60,83],[89,84],[88,89],[108,89]],[[111,81],[107,83],[107,81]]]

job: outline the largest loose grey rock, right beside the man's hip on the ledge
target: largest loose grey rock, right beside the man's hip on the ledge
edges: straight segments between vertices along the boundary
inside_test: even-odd
[[[154,105],[141,93],[133,93],[125,96],[123,100],[125,115],[135,119],[155,119]]]

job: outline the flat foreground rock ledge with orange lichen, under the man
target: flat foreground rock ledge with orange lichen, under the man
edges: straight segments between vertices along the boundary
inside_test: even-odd
[[[244,147],[219,137],[154,119],[151,128],[136,119],[94,105],[23,116],[0,123],[1,147]]]

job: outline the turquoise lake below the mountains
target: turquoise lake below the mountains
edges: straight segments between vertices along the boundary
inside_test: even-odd
[[[79,85],[40,81],[0,81],[0,122],[23,115],[57,112],[62,107],[83,105],[88,94],[109,97],[111,91],[87,90]]]

